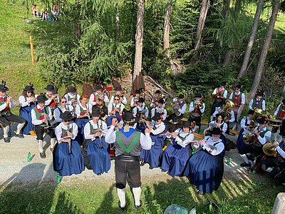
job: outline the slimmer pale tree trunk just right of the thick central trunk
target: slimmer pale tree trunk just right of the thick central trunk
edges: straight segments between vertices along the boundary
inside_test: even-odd
[[[170,0],[165,16],[165,26],[163,34],[163,50],[165,51],[165,56],[170,58],[170,20],[172,13],[172,0]]]

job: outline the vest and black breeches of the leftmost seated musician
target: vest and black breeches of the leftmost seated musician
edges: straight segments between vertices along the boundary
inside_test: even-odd
[[[6,102],[6,98],[1,97],[0,106],[4,105],[5,102]],[[6,127],[6,126],[10,126],[10,122],[25,123],[26,120],[24,120],[24,118],[21,118],[11,113],[11,109],[8,104],[6,108],[4,108],[4,110],[0,112],[0,123],[2,123],[4,127]]]

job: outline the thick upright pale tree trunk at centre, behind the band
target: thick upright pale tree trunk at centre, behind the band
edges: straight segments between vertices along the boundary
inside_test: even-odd
[[[142,71],[142,38],[143,38],[143,14],[145,0],[138,0],[137,12],[137,31],[135,33],[135,65],[133,72],[133,81]]]

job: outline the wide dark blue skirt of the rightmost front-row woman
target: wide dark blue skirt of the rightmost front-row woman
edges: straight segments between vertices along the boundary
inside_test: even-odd
[[[200,150],[192,156],[185,168],[184,175],[190,177],[190,183],[204,193],[212,193],[222,183],[224,162],[222,153],[212,156]]]

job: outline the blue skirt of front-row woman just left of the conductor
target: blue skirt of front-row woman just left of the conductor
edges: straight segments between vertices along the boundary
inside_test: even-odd
[[[95,174],[108,173],[111,167],[108,144],[105,138],[101,138],[101,142],[103,148],[100,145],[100,138],[95,138],[94,141],[89,140],[87,147],[90,165]]]

